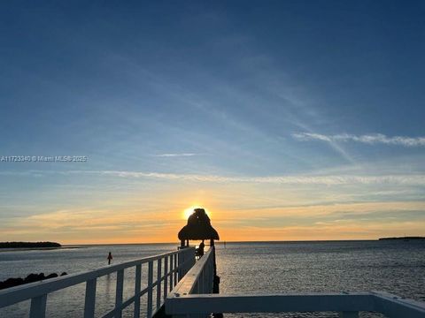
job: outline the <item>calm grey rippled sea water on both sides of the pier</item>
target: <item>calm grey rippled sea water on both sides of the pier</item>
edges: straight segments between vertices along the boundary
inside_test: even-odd
[[[104,266],[108,252],[115,263],[161,254],[176,245],[85,246],[82,248],[0,252],[0,280],[27,276],[31,272],[75,273]],[[425,241],[344,241],[289,243],[228,243],[217,246],[220,292],[367,292],[385,291],[425,301]],[[134,286],[126,271],[124,297]],[[146,274],[144,270],[143,275]],[[143,281],[146,281],[143,276]],[[48,316],[77,317],[82,314],[84,285],[50,294]],[[105,276],[97,284],[97,316],[112,309],[115,276]],[[0,317],[21,317],[29,302],[6,310]],[[130,316],[132,308],[127,314]],[[266,314],[226,315],[228,317]],[[336,317],[335,314],[269,314],[280,317]],[[379,317],[361,314],[362,317]]]

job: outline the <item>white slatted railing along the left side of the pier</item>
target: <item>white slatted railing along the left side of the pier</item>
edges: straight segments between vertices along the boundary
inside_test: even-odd
[[[157,275],[154,278],[154,262],[157,262]],[[181,280],[195,263],[195,248],[188,247],[175,252],[159,254],[134,261],[126,261],[101,269],[82,272],[43,282],[24,284],[0,291],[0,308],[12,306],[21,301],[31,299],[29,317],[43,318],[46,314],[46,301],[50,292],[56,292],[76,284],[85,283],[84,318],[92,318],[96,307],[97,278],[116,273],[115,307],[103,317],[120,318],[122,310],[134,304],[134,317],[140,317],[140,299],[147,293],[146,316],[151,318],[164,303],[168,292]],[[148,264],[147,287],[142,290],[142,265]],[[164,268],[162,268],[164,266]],[[123,284],[124,269],[135,268],[134,296],[124,301]],[[153,306],[153,290],[156,287],[156,308]]]

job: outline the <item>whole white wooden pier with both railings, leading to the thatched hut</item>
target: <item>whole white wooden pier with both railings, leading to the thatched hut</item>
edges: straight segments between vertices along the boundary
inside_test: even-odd
[[[385,292],[214,294],[214,261],[214,247],[198,261],[195,248],[183,248],[89,272],[9,288],[0,291],[0,308],[31,299],[29,317],[44,318],[50,292],[85,283],[83,316],[91,318],[95,314],[97,278],[115,274],[115,305],[111,311],[104,313],[104,318],[120,318],[123,309],[130,305],[134,305],[135,318],[158,316],[164,307],[165,313],[174,318],[207,317],[212,313],[282,312],[338,312],[340,317],[356,318],[362,311],[381,313],[389,318],[425,318],[425,303]],[[153,272],[154,262],[157,273]],[[148,281],[147,287],[142,290],[143,264],[147,264]],[[123,299],[124,271],[132,268],[135,268],[135,293],[129,299]],[[147,297],[147,306],[142,313],[140,305],[143,296]]]

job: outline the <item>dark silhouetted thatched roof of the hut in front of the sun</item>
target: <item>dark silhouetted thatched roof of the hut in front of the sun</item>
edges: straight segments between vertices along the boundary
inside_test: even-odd
[[[188,224],[179,231],[179,239],[220,239],[219,233],[211,225],[204,208],[195,208],[188,218]]]

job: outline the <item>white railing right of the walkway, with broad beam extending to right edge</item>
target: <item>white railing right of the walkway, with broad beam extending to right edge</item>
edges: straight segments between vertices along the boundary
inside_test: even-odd
[[[358,318],[360,311],[367,311],[390,318],[425,318],[425,303],[385,292],[213,294],[213,275],[210,249],[168,294],[166,314],[192,318],[212,313],[338,312],[340,317]]]

